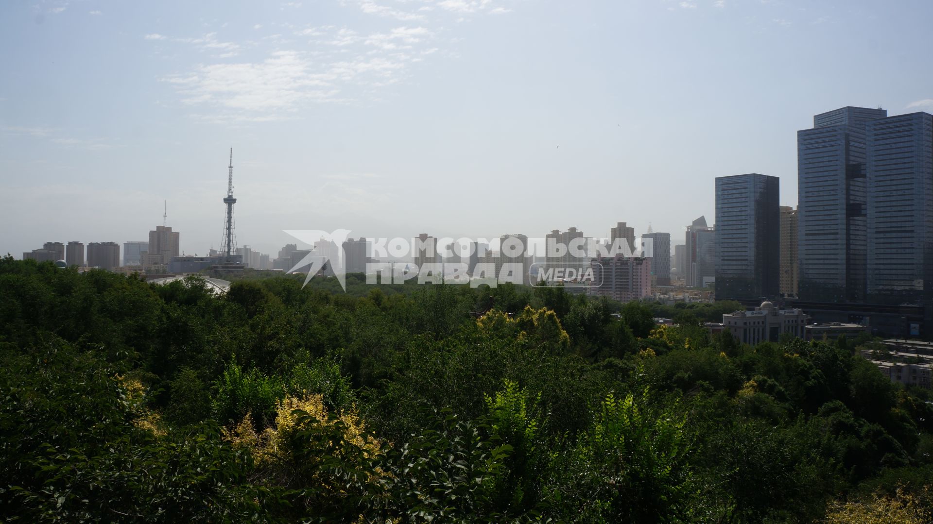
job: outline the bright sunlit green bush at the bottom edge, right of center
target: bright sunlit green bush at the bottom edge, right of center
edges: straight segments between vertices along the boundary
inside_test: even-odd
[[[688,520],[694,496],[686,420],[648,392],[606,395],[576,446],[552,458],[544,488],[561,520]]]

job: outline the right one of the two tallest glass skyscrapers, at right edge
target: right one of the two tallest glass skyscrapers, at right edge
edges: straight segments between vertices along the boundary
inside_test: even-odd
[[[868,136],[870,302],[933,300],[933,115],[871,120]]]

